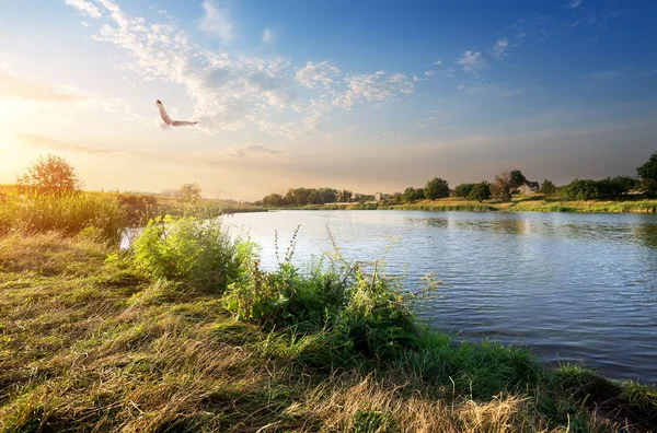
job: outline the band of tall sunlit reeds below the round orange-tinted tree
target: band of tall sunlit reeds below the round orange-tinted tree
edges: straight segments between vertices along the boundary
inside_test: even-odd
[[[51,196],[10,191],[0,198],[0,235],[49,231],[73,235],[93,229],[103,238],[117,241],[125,223],[125,208],[102,192]]]

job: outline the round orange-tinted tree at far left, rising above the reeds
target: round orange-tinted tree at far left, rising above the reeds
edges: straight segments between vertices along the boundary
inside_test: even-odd
[[[71,194],[82,188],[76,168],[65,159],[48,154],[16,178],[16,183],[39,194]]]

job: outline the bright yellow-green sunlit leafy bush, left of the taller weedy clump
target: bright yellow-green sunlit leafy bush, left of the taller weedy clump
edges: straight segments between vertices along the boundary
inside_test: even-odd
[[[134,262],[159,278],[223,291],[254,247],[232,239],[219,220],[171,215],[149,221],[132,244]]]

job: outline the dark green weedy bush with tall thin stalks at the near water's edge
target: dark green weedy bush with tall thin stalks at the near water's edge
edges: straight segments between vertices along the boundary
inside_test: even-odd
[[[362,265],[338,255],[328,266],[320,260],[303,270],[290,258],[288,250],[273,272],[262,271],[257,259],[242,260],[224,296],[227,309],[268,329],[301,336],[323,332],[323,344],[339,348],[341,359],[391,359],[402,348],[416,347],[418,332],[408,302],[414,295],[404,292],[400,281],[377,266],[367,274]]]

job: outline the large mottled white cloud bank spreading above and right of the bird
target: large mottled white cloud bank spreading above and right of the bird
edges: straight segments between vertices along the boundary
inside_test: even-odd
[[[293,70],[290,61],[281,57],[234,56],[226,48],[207,49],[192,42],[173,21],[149,23],[125,14],[111,0],[95,1],[110,20],[92,38],[127,54],[128,60],[117,65],[117,69],[124,74],[132,72],[136,78],[129,80],[131,83],[182,87],[194,104],[189,117],[198,120],[195,130],[204,133],[253,127],[265,134],[297,140],[304,133],[324,133],[318,128],[334,109],[350,109],[356,104],[414,92],[413,82],[403,73],[377,71],[342,78],[339,68],[330,61],[309,61]],[[220,11],[208,1],[204,8],[207,16],[201,26],[223,39],[232,37],[226,26],[215,25]],[[315,94],[307,97],[304,92],[306,100],[300,98],[300,86]],[[155,118],[153,114],[152,120]]]

